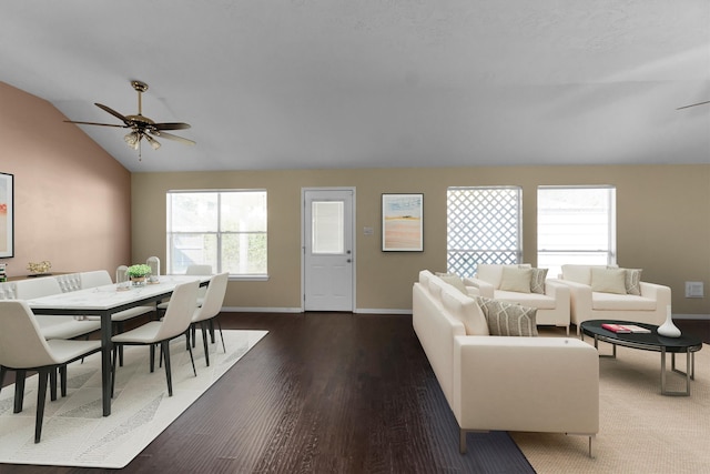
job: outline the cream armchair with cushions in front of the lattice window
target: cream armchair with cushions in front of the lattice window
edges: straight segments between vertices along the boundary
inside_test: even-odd
[[[538,325],[565,327],[569,335],[569,288],[556,280],[546,280],[547,269],[525,265],[479,263],[466,285],[478,289],[485,297],[537,307]]]

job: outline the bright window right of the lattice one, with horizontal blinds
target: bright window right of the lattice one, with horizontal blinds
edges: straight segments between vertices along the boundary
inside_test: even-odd
[[[539,186],[537,265],[557,278],[564,264],[616,264],[616,188]]]

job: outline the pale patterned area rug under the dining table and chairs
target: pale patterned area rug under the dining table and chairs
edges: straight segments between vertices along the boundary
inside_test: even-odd
[[[224,331],[225,354],[217,333],[216,343],[209,344],[209,367],[197,335],[196,377],[184,337],[174,340],[171,397],[165,371],[158,366],[149,371],[149,349],[126,346],[124,366],[116,370],[110,416],[101,415],[100,354],[83,364],[73,363],[68,371],[68,396],[50,402],[48,394],[39,444],[34,444],[37,375],[27,380],[22,413],[12,413],[14,386],[7,386],[0,392],[0,463],[123,467],[265,335],[266,331]]]

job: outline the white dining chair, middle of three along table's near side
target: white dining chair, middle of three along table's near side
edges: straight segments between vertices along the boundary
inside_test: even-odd
[[[161,353],[165,360],[165,379],[168,381],[168,395],[173,395],[172,373],[170,367],[170,341],[186,334],[192,322],[192,315],[197,300],[197,280],[182,283],[175,286],[165,316],[161,321],[150,321],[139,327],[120,333],[111,337],[113,342],[113,371],[111,377],[111,395],[115,389],[115,366],[118,347],[123,345],[148,345],[150,346],[150,371],[155,369],[155,345],[160,344]],[[189,345],[192,371],[195,376],[195,361],[192,356],[192,347]]]

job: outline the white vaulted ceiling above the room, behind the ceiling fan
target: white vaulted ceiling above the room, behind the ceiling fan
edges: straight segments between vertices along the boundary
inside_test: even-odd
[[[708,0],[13,1],[0,64],[70,120],[148,82],[197,144],[80,125],[131,171],[710,162]]]

